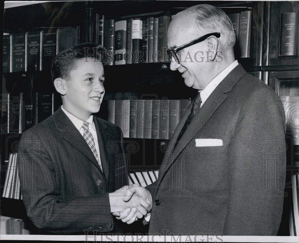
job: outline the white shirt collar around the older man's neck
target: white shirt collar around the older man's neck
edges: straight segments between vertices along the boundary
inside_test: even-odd
[[[238,61],[234,61],[230,65],[228,65],[225,69],[223,69],[218,75],[210,81],[210,83],[207,84],[207,86],[200,91],[200,98],[202,99],[202,104],[205,103],[205,101],[208,99],[210,94],[215,90],[215,88],[218,86],[218,84],[221,83],[221,81],[238,65]]]

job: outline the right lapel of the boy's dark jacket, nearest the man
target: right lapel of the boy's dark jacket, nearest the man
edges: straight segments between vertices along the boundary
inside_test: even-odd
[[[106,144],[110,141],[110,134],[107,132],[106,125],[103,122],[98,121],[95,116],[93,121],[97,130],[97,141],[99,144],[102,169],[108,182],[110,168],[109,161],[111,160],[109,159],[109,154],[106,150]]]

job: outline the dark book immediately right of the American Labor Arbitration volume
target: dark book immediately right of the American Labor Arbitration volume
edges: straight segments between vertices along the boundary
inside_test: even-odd
[[[27,58],[25,71],[39,71],[41,70],[42,62],[42,32],[29,31],[26,33],[26,48]]]

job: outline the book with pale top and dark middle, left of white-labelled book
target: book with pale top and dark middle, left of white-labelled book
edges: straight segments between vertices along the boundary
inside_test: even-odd
[[[114,64],[126,64],[126,35],[127,35],[127,21],[120,20],[115,22],[115,40],[114,40]]]

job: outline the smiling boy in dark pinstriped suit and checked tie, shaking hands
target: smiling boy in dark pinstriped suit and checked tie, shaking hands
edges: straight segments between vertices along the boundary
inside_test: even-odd
[[[150,210],[149,200],[138,196],[123,202],[127,173],[122,132],[91,115],[100,110],[105,94],[104,56],[96,44],[60,52],[51,77],[62,106],[21,137],[18,158],[25,209],[46,233],[121,232],[114,227],[112,212],[126,209],[132,216],[127,223],[132,223],[137,211],[140,218]]]

